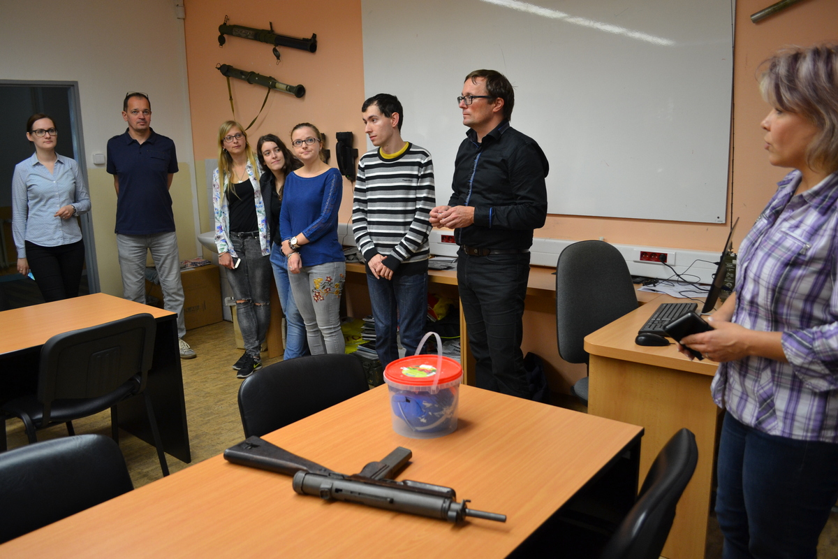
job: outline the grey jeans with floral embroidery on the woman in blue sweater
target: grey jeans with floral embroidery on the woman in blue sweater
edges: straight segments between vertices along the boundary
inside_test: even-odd
[[[294,301],[306,324],[308,349],[312,355],[342,354],[346,349],[340,331],[340,295],[344,291],[346,262],[303,266],[289,274]]]

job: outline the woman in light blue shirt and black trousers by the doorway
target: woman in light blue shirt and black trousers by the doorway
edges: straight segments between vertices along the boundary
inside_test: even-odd
[[[12,177],[18,272],[32,271],[47,303],[77,297],[85,244],[75,216],[91,210],[91,196],[78,163],[55,153],[58,131],[52,118],[30,116],[26,137],[35,153],[15,166]]]

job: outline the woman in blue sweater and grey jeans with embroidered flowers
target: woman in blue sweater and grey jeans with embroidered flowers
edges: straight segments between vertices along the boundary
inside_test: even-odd
[[[340,292],[346,263],[338,241],[338,209],[343,179],[323,161],[322,139],[308,122],[291,131],[303,163],[285,179],[279,227],[282,253],[291,272],[291,290],[303,315],[312,355],[344,353],[340,331]]]

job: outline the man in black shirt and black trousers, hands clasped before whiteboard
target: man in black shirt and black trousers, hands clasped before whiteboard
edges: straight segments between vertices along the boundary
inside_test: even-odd
[[[466,76],[458,97],[469,128],[454,162],[448,205],[431,223],[454,230],[457,279],[477,386],[530,398],[521,354],[533,230],[547,215],[549,164],[530,137],[510,127],[515,91],[495,70]]]

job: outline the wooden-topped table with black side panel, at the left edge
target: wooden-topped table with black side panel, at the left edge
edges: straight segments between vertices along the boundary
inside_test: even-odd
[[[23,380],[34,392],[38,379],[41,346],[55,334],[88,328],[137,313],[150,313],[157,321],[154,359],[148,371],[146,391],[154,404],[163,448],[173,457],[191,462],[189,431],[186,427],[184,379],[180,370],[177,315],[163,308],[149,307],[127,299],[94,293],[54,303],[14,308],[0,313],[0,386],[3,396],[14,396]],[[21,375],[21,370],[31,374]],[[11,378],[15,375],[15,378]],[[145,406],[139,398],[119,404],[119,425],[128,432],[153,443]],[[5,433],[3,433],[5,437]]]

